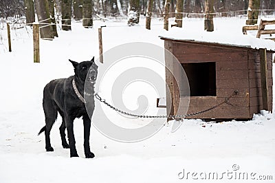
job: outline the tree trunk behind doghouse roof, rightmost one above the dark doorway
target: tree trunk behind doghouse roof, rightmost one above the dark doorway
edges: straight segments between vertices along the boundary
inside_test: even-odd
[[[204,19],[204,30],[208,32],[214,31],[213,13],[214,12],[214,0],[206,0],[206,15]]]

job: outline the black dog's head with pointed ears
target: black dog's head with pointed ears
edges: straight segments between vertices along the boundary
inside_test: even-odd
[[[74,66],[74,73],[80,79],[81,82],[85,82],[86,78],[89,83],[96,83],[96,76],[98,75],[98,66],[94,62],[94,58],[91,61],[84,61],[77,63],[69,60]]]

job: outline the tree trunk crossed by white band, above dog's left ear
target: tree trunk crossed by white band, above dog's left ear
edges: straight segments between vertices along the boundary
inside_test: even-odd
[[[72,30],[71,17],[72,17],[72,1],[62,0],[61,2],[61,14],[62,14],[62,30]]]

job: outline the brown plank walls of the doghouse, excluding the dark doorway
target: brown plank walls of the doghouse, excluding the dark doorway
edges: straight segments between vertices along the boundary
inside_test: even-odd
[[[180,63],[216,63],[217,96],[191,96],[187,114],[208,109],[221,103],[234,90],[239,91],[238,96],[230,99],[233,106],[223,104],[217,109],[189,118],[250,119],[253,114],[263,109],[259,50],[218,43],[162,39],[164,39],[166,50],[172,52]],[[272,53],[272,51],[267,51],[269,111],[272,111]],[[166,64],[170,64],[167,60],[166,58]],[[166,83],[168,83],[172,96],[173,110],[170,111],[170,115],[176,114],[177,110],[180,114],[187,106],[178,109],[179,88],[173,85],[175,78],[170,72],[166,72]],[[167,105],[168,103],[169,101]]]

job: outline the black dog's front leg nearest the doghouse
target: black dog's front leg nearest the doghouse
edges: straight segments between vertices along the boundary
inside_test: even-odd
[[[83,116],[83,125],[84,125],[84,152],[86,158],[94,158],[94,153],[91,153],[90,150],[90,129],[91,129],[91,120],[88,115]]]

